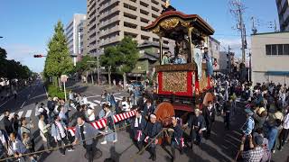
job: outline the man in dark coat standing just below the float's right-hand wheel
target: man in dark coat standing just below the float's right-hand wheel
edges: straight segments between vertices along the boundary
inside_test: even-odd
[[[211,101],[208,102],[208,106],[204,107],[202,109],[202,115],[205,118],[206,121],[206,137],[207,139],[210,138],[210,130],[211,126],[213,125],[213,122],[215,121],[216,111],[213,107],[213,103]]]

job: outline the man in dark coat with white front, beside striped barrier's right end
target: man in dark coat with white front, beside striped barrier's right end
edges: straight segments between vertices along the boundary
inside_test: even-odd
[[[133,130],[133,137],[139,151],[141,151],[144,146],[144,129],[146,124],[147,122],[144,119],[144,116],[142,115],[141,111],[137,109],[135,111],[135,118],[133,118],[131,121],[131,129]]]

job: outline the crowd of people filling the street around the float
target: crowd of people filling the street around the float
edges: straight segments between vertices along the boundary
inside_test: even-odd
[[[95,107],[89,104],[85,95],[70,92],[69,100],[65,102],[57,97],[49,97],[47,103],[35,103],[35,116],[38,125],[17,114],[10,115],[5,111],[4,126],[0,131],[0,151],[4,157],[15,157],[19,161],[29,158],[37,161],[38,155],[22,156],[35,151],[35,134],[39,131],[44,150],[58,147],[61,155],[66,151],[74,151],[73,146],[81,144],[86,149],[89,161],[93,161],[97,148],[96,137],[100,133],[104,136],[100,142],[117,143],[117,127],[129,127],[138,148],[138,153],[147,150],[150,159],[156,160],[156,146],[160,144],[159,137],[169,135],[171,140],[172,160],[176,158],[175,149],[182,154],[185,146],[201,145],[202,138],[210,139],[210,131],[216,115],[222,115],[224,126],[230,129],[230,121],[237,111],[246,112],[247,120],[241,128],[243,136],[238,158],[244,161],[270,161],[271,154],[282,150],[287,143],[289,133],[289,89],[286,85],[240,83],[237,79],[217,77],[214,80],[214,101],[209,101],[202,108],[196,107],[190,113],[188,120],[183,122],[172,117],[172,123],[163,130],[163,123],[156,120],[154,114],[156,103],[154,95],[144,94],[139,87],[134,87],[127,97],[117,100],[114,94],[106,90],[101,94],[101,109],[96,113]],[[117,98],[117,99],[116,99]],[[244,108],[237,106],[237,99],[246,103]],[[70,114],[71,108],[77,112]],[[114,122],[113,115],[135,110],[135,116],[124,121]],[[104,129],[95,129],[90,122],[107,119]],[[37,123],[37,122],[36,122]],[[68,131],[75,127],[75,136]],[[184,139],[184,129],[189,128],[189,138]],[[39,130],[38,130],[39,129]],[[157,138],[156,138],[157,137]],[[64,145],[65,147],[62,147]]]

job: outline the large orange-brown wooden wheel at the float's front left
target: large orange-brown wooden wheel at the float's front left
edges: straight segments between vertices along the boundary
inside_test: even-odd
[[[156,120],[163,123],[163,127],[167,127],[172,123],[172,116],[174,116],[174,109],[172,103],[160,103],[155,111]]]

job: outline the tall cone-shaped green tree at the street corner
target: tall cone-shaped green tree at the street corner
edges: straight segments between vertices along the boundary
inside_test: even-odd
[[[63,24],[59,21],[54,27],[54,35],[48,43],[47,58],[45,60],[45,76],[55,76],[61,86],[59,77],[69,74],[73,69],[68,43],[64,34]]]

